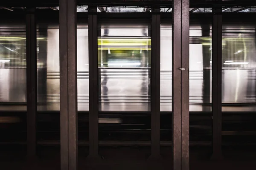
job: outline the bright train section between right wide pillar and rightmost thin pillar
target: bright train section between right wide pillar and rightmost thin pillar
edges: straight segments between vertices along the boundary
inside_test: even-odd
[[[210,111],[211,28],[190,26],[189,36],[189,111]]]

